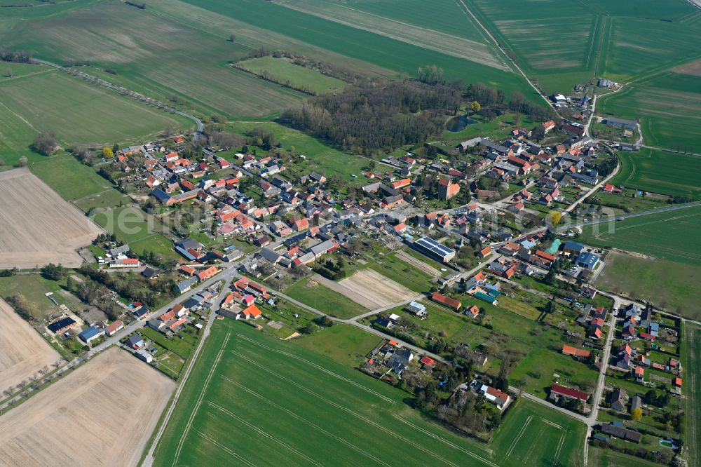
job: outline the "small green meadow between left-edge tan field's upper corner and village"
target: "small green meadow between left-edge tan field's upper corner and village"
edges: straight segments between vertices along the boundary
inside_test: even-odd
[[[101,193],[112,184],[97,175],[95,169],[83,165],[70,154],[41,156],[29,169],[64,199],[76,200]]]

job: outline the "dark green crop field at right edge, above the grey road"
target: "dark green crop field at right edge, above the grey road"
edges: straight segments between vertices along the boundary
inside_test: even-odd
[[[621,168],[611,183],[670,196],[701,197],[701,158],[657,149],[618,152]]]

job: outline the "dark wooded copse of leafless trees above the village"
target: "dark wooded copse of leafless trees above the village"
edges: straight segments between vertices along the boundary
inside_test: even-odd
[[[372,151],[426,141],[442,130],[444,116],[460,104],[460,90],[448,86],[369,81],[303,102],[280,119],[343,149]]]

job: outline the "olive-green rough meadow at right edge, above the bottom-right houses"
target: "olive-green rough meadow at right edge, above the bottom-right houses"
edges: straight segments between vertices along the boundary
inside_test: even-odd
[[[667,259],[645,259],[611,253],[596,287],[621,295],[645,299],[672,313],[701,319],[697,297],[701,267]]]

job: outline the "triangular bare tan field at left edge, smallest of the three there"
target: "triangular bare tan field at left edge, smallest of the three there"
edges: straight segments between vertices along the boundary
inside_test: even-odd
[[[0,299],[0,391],[17,386],[61,357]]]

